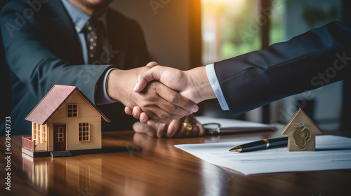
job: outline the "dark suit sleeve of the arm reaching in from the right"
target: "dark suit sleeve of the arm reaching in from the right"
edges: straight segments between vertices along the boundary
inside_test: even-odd
[[[331,22],[214,66],[230,112],[239,115],[350,76],[350,45],[350,20]]]

